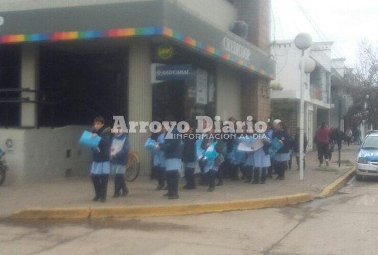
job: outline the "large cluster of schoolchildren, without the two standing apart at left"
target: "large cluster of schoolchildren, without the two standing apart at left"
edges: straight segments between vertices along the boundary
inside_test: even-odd
[[[232,118],[229,121],[235,122]],[[178,180],[182,166],[186,181],[183,189],[188,190],[197,187],[195,173],[200,176],[199,184],[207,185],[208,191],[215,190],[217,177],[217,185],[223,185],[223,175],[226,173],[232,180],[239,180],[239,170],[246,183],[265,184],[267,178],[273,177],[273,170],[278,174],[278,180],[285,179],[285,171],[291,159],[292,139],[283,122],[269,124],[264,139],[261,139],[263,146],[255,151],[238,149],[239,143],[252,137],[252,134],[245,132],[237,138],[216,139],[212,127],[208,133],[195,136],[194,123],[187,122],[190,129],[182,140],[177,137],[165,139],[167,132],[162,130],[159,134],[153,134],[145,144],[153,155],[153,168],[158,179],[156,190],[164,189],[167,180],[168,192],[164,196],[170,199],[179,197]],[[204,129],[206,125],[204,122]],[[177,130],[174,129],[173,133],[177,134]],[[278,143],[275,150],[272,141]]]

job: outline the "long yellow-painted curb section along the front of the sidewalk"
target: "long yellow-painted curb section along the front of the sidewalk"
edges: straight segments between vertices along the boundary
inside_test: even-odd
[[[202,213],[251,210],[296,205],[314,200],[308,193],[256,198],[250,200],[224,201],[201,204],[176,204],[157,206],[131,206],[106,208],[36,208],[26,209],[11,215],[12,219],[86,219],[114,217],[155,217]]]

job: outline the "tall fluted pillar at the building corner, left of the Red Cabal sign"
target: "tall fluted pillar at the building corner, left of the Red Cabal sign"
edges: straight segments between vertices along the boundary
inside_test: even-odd
[[[149,43],[137,40],[129,47],[128,120],[152,121],[151,58]],[[129,134],[131,149],[138,154],[140,171],[150,173],[151,154],[144,147],[147,133]]]

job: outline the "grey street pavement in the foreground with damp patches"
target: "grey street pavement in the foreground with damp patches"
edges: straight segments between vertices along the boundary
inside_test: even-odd
[[[0,254],[378,254],[378,182],[293,207],[195,216],[0,221]]]

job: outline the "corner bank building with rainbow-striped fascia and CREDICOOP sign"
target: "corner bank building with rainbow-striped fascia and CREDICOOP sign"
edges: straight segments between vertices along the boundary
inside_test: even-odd
[[[270,1],[1,2],[0,147],[10,182],[86,174],[90,151],[77,143],[99,114],[109,123],[270,116]],[[161,68],[190,75],[161,77]],[[130,135],[144,174],[148,137]]]

